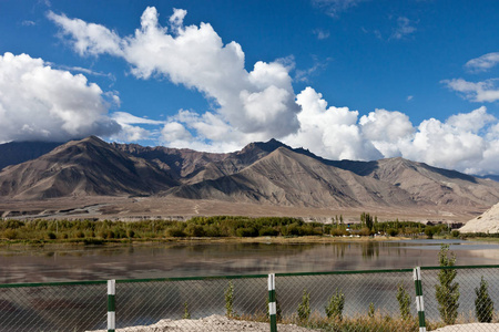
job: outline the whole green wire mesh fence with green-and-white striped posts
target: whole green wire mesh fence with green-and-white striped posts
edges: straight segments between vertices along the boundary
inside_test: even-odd
[[[498,272],[426,267],[420,283],[398,269],[0,284],[0,331],[499,331]]]

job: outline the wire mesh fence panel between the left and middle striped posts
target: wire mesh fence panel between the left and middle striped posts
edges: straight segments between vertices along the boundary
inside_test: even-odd
[[[265,321],[267,297],[266,277],[122,281],[116,286],[116,328],[220,331],[227,318]],[[201,320],[206,318],[214,322],[206,325]]]

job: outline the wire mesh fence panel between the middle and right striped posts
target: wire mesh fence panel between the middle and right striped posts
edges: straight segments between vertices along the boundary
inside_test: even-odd
[[[284,322],[323,331],[418,331],[410,270],[277,274],[276,297]]]

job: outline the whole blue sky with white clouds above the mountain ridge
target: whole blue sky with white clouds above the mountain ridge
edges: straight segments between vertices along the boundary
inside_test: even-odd
[[[499,2],[0,1],[0,142],[499,172]]]

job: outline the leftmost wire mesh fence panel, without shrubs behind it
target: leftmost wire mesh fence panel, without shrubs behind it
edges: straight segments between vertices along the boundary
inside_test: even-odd
[[[105,283],[0,288],[0,331],[85,331],[106,324]]]

